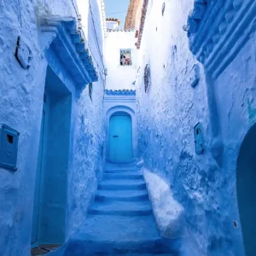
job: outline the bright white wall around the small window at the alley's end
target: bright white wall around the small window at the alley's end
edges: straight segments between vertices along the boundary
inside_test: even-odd
[[[106,89],[108,90],[135,90],[132,84],[137,74],[137,48],[135,47],[135,31],[108,32],[106,38],[106,66],[108,76]],[[131,66],[120,66],[120,49],[131,49]]]

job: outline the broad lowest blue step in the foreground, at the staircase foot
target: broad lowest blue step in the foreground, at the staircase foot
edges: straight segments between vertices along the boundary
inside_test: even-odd
[[[59,255],[177,255],[172,247],[177,247],[177,241],[166,241],[159,236],[152,215],[89,215]]]

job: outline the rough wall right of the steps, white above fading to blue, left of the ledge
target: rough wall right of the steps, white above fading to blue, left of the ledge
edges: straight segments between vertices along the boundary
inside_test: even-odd
[[[165,177],[172,186],[174,198],[184,207],[187,226],[184,236],[196,245],[193,255],[200,255],[207,250],[204,242],[207,188],[201,188],[201,183],[207,177],[205,166],[209,156],[195,154],[193,127],[201,121],[204,133],[209,130],[207,91],[202,68],[199,84],[191,88],[197,61],[189,52],[183,24],[192,1],[166,2],[164,16],[161,6],[160,2],[149,1],[143,31],[137,79],[138,150],[144,166]],[[143,80],[146,64],[151,70],[147,94]]]

